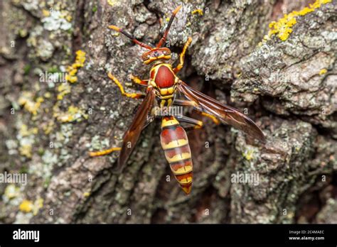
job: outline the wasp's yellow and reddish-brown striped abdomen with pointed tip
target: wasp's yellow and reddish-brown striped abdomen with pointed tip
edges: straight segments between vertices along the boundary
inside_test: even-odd
[[[164,116],[161,121],[161,147],[166,160],[186,194],[192,188],[193,163],[186,131],[173,116]]]

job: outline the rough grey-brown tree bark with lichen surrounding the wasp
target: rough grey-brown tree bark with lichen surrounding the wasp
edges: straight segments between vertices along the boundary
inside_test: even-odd
[[[87,155],[120,146],[139,104],[107,72],[127,91],[140,90],[129,74],[149,72],[144,50],[107,26],[154,44],[178,2],[0,1],[0,170],[28,173],[26,186],[0,184],[0,221],[337,223],[336,1],[297,17],[287,40],[262,42],[282,11],[312,2],[183,1],[166,43],[174,62],[193,37],[178,76],[242,109],[267,136],[257,145],[204,119],[205,128],[188,133],[195,172],[186,197],[164,159],[158,122],[122,174],[112,172],[118,153]],[[41,72],[72,65],[77,50],[86,60],[75,83],[41,82]],[[260,182],[232,182],[237,172]]]

